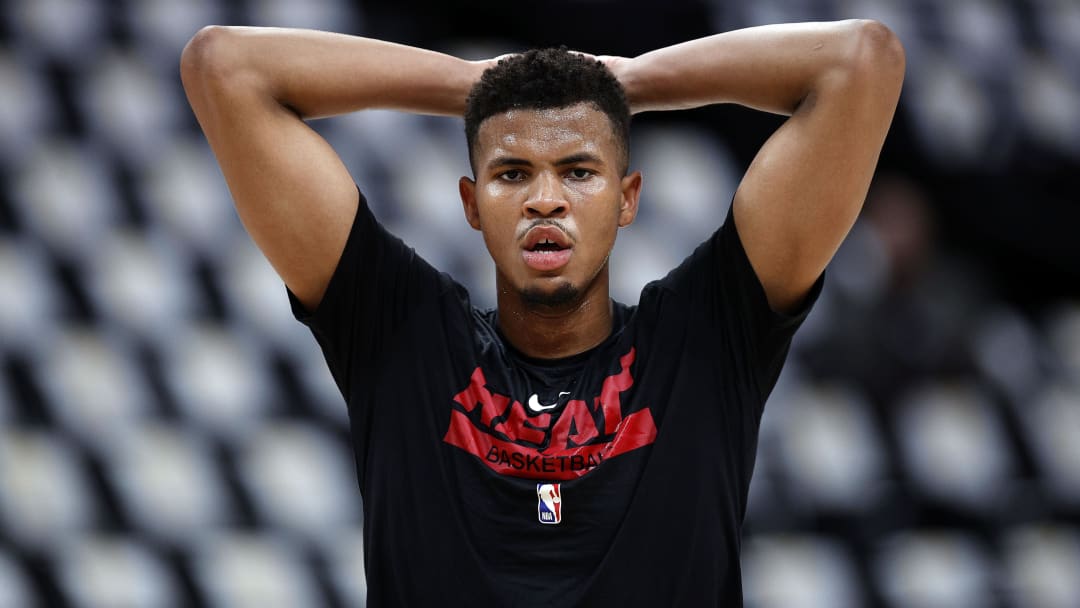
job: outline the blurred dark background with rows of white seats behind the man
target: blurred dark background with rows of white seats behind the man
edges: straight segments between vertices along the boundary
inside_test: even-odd
[[[746,605],[1080,606],[1080,1],[4,0],[0,608],[364,605],[343,404],[180,89],[201,26],[480,58],[846,17],[900,35],[907,80],[766,408]],[[618,299],[719,225],[780,121],[635,118]],[[383,222],[490,306],[460,121],[315,126]]]

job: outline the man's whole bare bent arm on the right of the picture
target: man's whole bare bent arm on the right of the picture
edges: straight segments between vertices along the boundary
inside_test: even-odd
[[[786,24],[608,63],[634,111],[735,103],[791,116],[733,204],[769,305],[796,308],[866,198],[904,79],[896,37],[873,21]]]

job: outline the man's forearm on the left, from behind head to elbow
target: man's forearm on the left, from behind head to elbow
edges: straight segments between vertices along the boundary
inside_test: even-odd
[[[459,116],[484,66],[323,31],[207,27],[184,51],[192,91],[255,90],[305,118],[366,108]]]

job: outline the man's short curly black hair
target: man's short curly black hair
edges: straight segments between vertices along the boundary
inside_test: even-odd
[[[484,71],[465,100],[469,161],[480,125],[512,109],[543,110],[592,104],[607,114],[619,145],[623,172],[630,165],[630,104],[622,84],[602,62],[558,49],[532,49],[500,59]]]

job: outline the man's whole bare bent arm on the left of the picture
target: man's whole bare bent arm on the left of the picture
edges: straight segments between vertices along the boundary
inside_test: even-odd
[[[203,28],[184,49],[188,100],[240,219],[309,311],[356,213],[356,187],[303,119],[365,108],[460,116],[486,63],[311,30]]]

